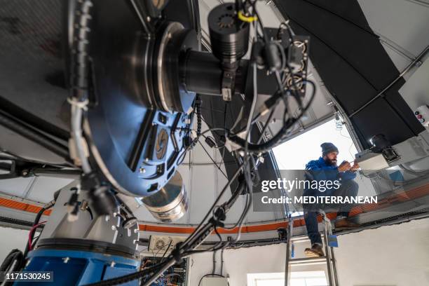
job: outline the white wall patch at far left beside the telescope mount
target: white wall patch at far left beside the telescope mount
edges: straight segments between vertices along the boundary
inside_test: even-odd
[[[0,226],[0,264],[11,250],[18,248],[24,252],[29,231]]]

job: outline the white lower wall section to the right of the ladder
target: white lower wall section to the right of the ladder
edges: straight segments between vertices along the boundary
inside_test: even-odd
[[[340,236],[339,244],[341,286],[429,285],[429,219]]]

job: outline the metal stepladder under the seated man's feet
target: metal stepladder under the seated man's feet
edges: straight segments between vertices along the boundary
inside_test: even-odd
[[[287,232],[287,247],[286,247],[286,264],[285,264],[285,286],[290,285],[290,269],[291,266],[311,265],[311,264],[326,264],[328,273],[329,286],[339,286],[338,277],[336,275],[336,261],[334,257],[334,247],[329,245],[329,236],[332,236],[332,226],[330,219],[325,212],[320,210],[322,222],[324,224],[322,238],[325,245],[324,257],[309,257],[309,258],[292,258],[292,232],[294,228],[292,217],[289,216],[289,231]],[[297,240],[297,242],[309,241],[309,239]]]

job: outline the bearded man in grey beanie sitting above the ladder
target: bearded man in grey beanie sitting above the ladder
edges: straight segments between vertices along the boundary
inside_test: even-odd
[[[332,143],[323,143],[322,156],[315,161],[310,161],[306,165],[306,179],[308,181],[337,181],[336,188],[305,189],[304,196],[356,196],[358,185],[353,181],[356,174],[355,171],[359,168],[356,162],[351,165],[344,161],[340,165],[336,164],[336,156],[338,156],[338,148]],[[322,186],[322,184],[320,184]],[[320,208],[327,210],[329,205],[304,205],[304,219],[308,238],[311,240],[311,248],[306,248],[305,254],[308,257],[324,256],[322,250],[322,238],[318,231],[318,210]],[[335,229],[350,229],[356,227],[357,224],[348,221],[348,211],[350,205],[335,205],[337,212]]]

